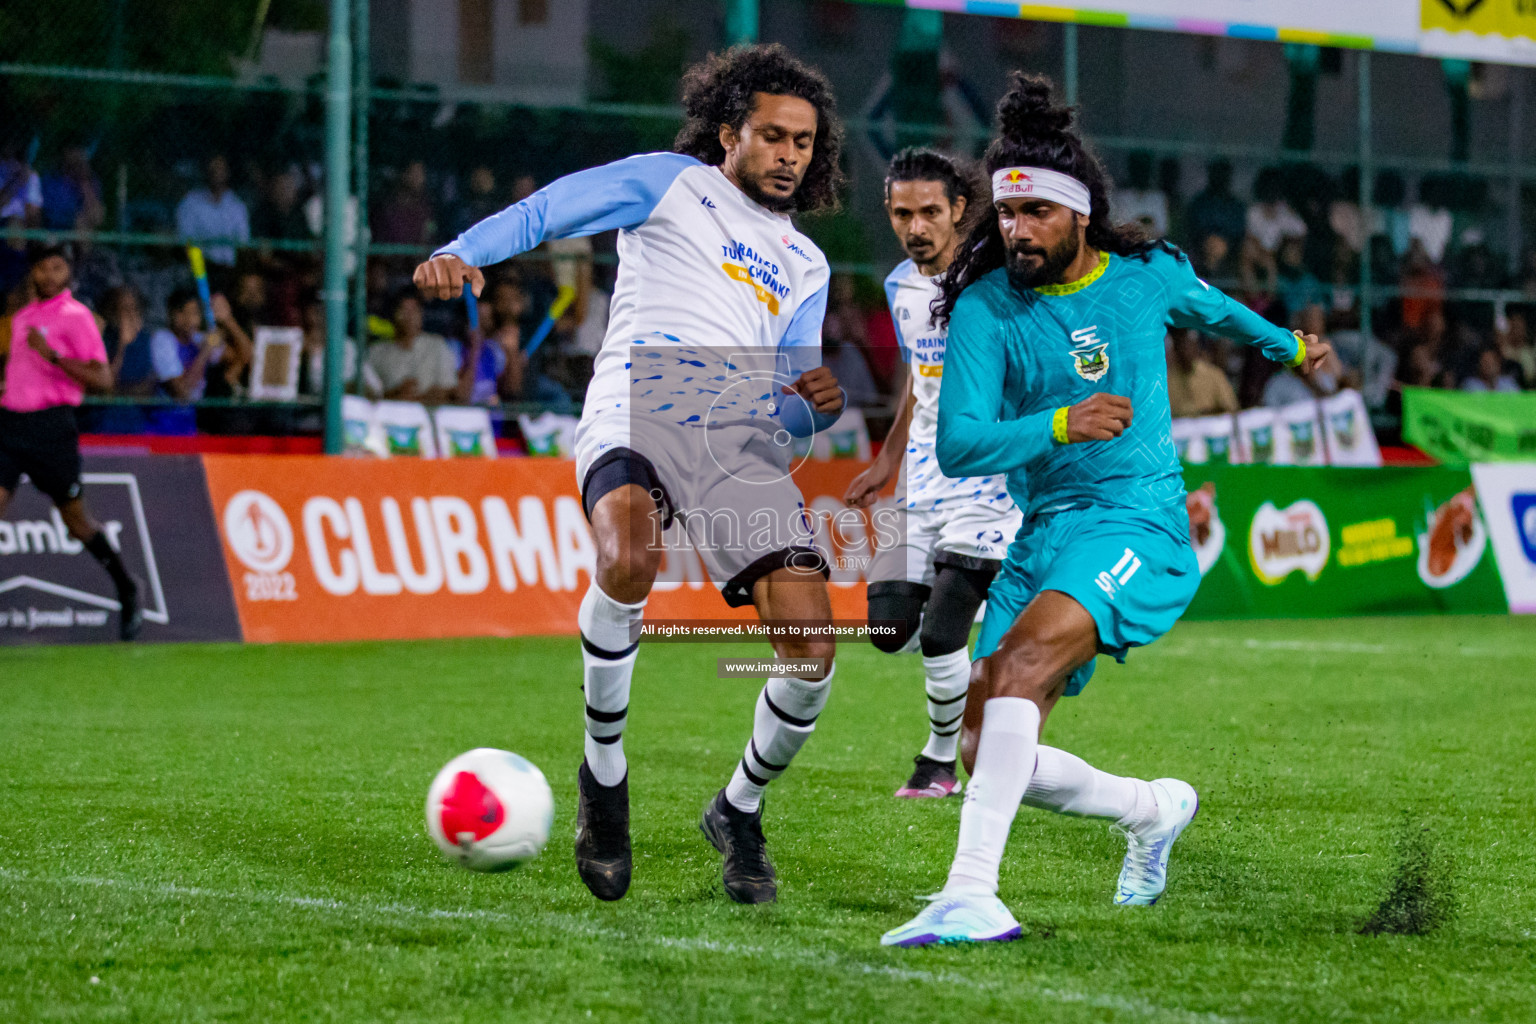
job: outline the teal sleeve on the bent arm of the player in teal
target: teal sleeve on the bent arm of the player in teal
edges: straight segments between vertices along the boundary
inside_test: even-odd
[[[986,302],[966,299],[960,298],[949,319],[934,445],[938,468],[954,477],[1008,473],[1058,447],[1051,436],[1054,408],[1003,419],[1008,350],[1001,322]]]

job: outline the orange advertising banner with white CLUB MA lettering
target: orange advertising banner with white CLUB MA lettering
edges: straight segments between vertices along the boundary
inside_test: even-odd
[[[596,547],[574,464],[554,459],[206,456],[246,640],[574,634]],[[866,614],[862,462],[796,471],[834,553],[833,614]],[[834,522],[836,517],[836,522]],[[662,560],[647,619],[750,620],[690,547]]]

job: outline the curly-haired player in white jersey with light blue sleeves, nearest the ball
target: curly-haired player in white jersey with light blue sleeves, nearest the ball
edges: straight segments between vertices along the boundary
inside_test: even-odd
[[[582,599],[585,758],[576,869],[599,900],[628,892],[624,725],[641,619],[680,522],[728,605],[766,623],[826,626],[776,640],[814,671],[770,677],[751,737],[700,829],[739,903],[777,897],[762,794],[816,728],[833,679],[826,562],[788,476],[793,436],[829,427],[846,395],[820,365],[826,258],[790,213],[836,206],[842,124],[820,72],[782,46],[713,54],[684,77],[676,152],[561,178],[416,267],[436,298],[478,295],[478,267],[547,238],[619,229],[619,276],[576,431],[576,479],[598,570]]]

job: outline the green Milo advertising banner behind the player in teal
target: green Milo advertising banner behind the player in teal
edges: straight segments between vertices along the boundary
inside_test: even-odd
[[[1468,470],[1190,465],[1187,619],[1507,613]]]

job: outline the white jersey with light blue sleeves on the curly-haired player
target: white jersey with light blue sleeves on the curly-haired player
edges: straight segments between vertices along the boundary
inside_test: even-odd
[[[657,378],[641,370],[668,364],[664,384],[673,388],[682,381],[679,372],[702,365],[687,362],[699,350],[771,352],[779,373],[791,381],[820,365],[831,276],[826,258],[786,215],[754,203],[719,167],[693,157],[644,154],[559,178],[475,224],[439,253],[484,267],[548,238],[611,229],[619,229],[619,275],[584,419],[616,410],[674,410],[664,401],[670,395],[662,384],[647,387]],[[641,347],[694,353],[631,367]],[[682,364],[680,370],[673,364]],[[730,373],[728,365],[708,368],[708,376],[688,378],[691,390]],[[773,415],[773,401],[763,399]],[[688,408],[696,402],[680,402],[676,411]]]

